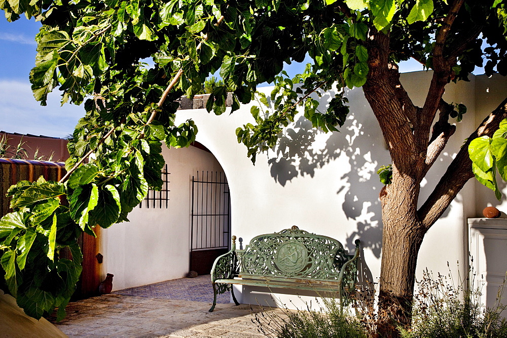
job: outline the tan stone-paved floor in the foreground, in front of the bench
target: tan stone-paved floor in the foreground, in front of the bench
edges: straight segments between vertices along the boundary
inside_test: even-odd
[[[67,317],[54,323],[71,337],[227,337],[263,336],[252,322],[261,309],[249,305],[104,294],[69,303]],[[283,316],[281,310],[269,310]],[[253,313],[252,313],[253,312]]]

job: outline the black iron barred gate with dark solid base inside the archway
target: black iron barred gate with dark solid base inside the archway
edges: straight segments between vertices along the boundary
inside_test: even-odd
[[[202,171],[192,177],[190,271],[209,274],[215,258],[229,250],[230,204],[225,174]]]

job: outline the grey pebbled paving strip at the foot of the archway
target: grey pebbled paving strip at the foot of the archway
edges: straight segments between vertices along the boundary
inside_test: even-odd
[[[118,290],[113,293],[184,301],[213,302],[213,288],[211,286],[210,275],[166,280],[160,283]],[[231,302],[230,300],[231,292],[229,291],[216,297],[216,303],[227,304]]]

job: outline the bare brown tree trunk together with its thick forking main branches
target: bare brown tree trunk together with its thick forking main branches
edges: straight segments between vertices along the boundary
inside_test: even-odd
[[[424,234],[442,216],[464,184],[474,175],[468,157],[473,139],[492,136],[507,117],[507,99],[468,138],[436,188],[418,210],[420,184],[436,161],[456,126],[449,119],[449,105],[442,100],[447,75],[433,74],[425,107],[415,107],[400,82],[396,65],[388,62],[389,37],[377,32],[372,39],[370,72],[363,90],[377,118],[392,159],[392,183],[381,193],[382,265],[379,294],[379,332],[397,336],[393,323],[411,321],[417,256]],[[395,99],[393,99],[395,98]],[[428,102],[433,104],[428,110]],[[440,110],[439,120],[433,121]],[[451,109],[452,110],[452,109]],[[425,117],[421,118],[423,114]]]

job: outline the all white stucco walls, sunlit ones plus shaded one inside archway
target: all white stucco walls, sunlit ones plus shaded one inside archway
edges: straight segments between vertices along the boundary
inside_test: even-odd
[[[402,74],[402,83],[414,104],[423,105],[430,79],[429,72]],[[467,113],[423,181],[421,204],[465,138],[485,114],[507,97],[506,83],[503,77],[488,79],[484,75],[470,75],[469,82],[447,86],[445,100],[465,104]],[[261,90],[269,93],[272,89]],[[324,94],[321,104],[324,106],[333,95]],[[238,126],[253,122],[249,105],[233,114],[226,112],[220,116],[204,109],[183,110],[178,112],[176,123],[194,119],[199,128],[197,141],[222,165],[231,193],[232,234],[241,237],[243,245],[256,235],[292,225],[334,237],[350,251],[354,248],[354,240],[360,239],[359,283],[376,282],[380,275],[382,247],[378,199],[382,184],[376,171],[381,165],[389,164],[390,158],[363,92],[354,89],[347,92],[347,97],[350,115],[340,133],[315,131],[310,122],[299,115],[286,129],[277,148],[259,155],[255,166],[235,135]],[[203,159],[194,160],[196,152],[201,150],[164,150],[166,161],[172,163],[169,171],[171,185],[174,184],[171,186],[173,209],[150,210],[149,214],[136,209],[129,216],[130,223],[104,231],[102,272],[115,274],[115,289],[183,277],[187,273],[190,178],[197,170],[208,170],[209,165],[220,170],[209,153]],[[176,182],[179,181],[175,179],[176,173],[181,182]],[[479,216],[487,203],[499,205],[494,201],[488,189],[473,180],[468,182],[426,234],[420,249],[417,277],[420,278],[426,268],[435,273],[447,273],[447,262],[456,274],[456,262],[460,262],[460,274],[464,276],[468,252],[466,219]],[[180,210],[180,213],[173,215],[172,210]],[[245,287],[237,291],[238,300],[243,303],[255,304],[256,298],[261,302],[269,299],[267,289]],[[289,299],[295,297],[281,297],[284,303]],[[296,306],[301,307],[301,304]]]

